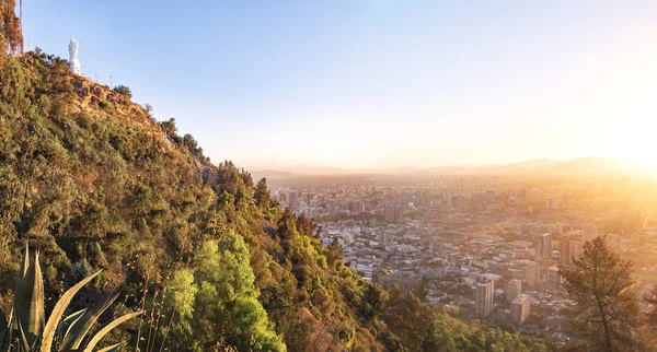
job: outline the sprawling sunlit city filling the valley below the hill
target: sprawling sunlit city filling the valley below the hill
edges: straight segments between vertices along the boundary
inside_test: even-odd
[[[462,318],[512,322],[520,330],[540,327],[556,341],[566,338],[564,314],[575,304],[564,294],[561,270],[574,265],[586,242],[603,234],[623,256],[639,265],[653,260],[657,221],[653,235],[600,232],[600,224],[613,228],[609,219],[619,219],[621,228],[641,220],[626,207],[587,201],[603,189],[498,184],[333,183],[287,185],[275,193],[315,216],[323,243],[339,242],[343,260],[364,280],[413,292],[424,279],[434,305],[459,306]],[[643,269],[657,277],[657,266]]]

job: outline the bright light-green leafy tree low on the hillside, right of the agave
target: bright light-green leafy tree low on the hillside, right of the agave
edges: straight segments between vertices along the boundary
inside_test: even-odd
[[[242,236],[231,232],[206,242],[197,256],[194,349],[208,351],[224,339],[240,351],[286,351],[257,301],[260,292]]]

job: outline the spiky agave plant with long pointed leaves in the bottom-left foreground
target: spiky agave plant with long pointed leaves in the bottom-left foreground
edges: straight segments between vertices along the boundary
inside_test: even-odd
[[[94,350],[99,341],[112,329],[141,314],[135,312],[106,322],[93,332],[99,317],[117,297],[110,296],[102,305],[84,308],[64,317],[73,296],[101,271],[81,280],[59,298],[46,320],[44,309],[44,281],[38,265],[38,251],[30,260],[28,247],[14,292],[13,309],[9,316],[0,309],[0,352],[112,352],[118,351],[120,343]]]

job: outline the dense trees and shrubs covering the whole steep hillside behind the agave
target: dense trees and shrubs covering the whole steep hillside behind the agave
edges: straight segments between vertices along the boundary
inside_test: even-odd
[[[544,351],[543,340],[465,324],[414,294],[361,281],[265,179],[210,163],[175,120],[69,73],[43,52],[0,66],[0,306],[25,242],[44,290],[103,269],[81,292],[120,290],[107,337],[141,351]],[[422,294],[420,294],[422,296]],[[50,310],[54,301],[46,302]],[[138,341],[138,342],[137,342]]]

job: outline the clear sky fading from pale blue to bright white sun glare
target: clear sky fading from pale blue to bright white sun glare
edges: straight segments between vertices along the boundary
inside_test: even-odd
[[[24,1],[32,48],[258,169],[657,166],[657,1]]]

